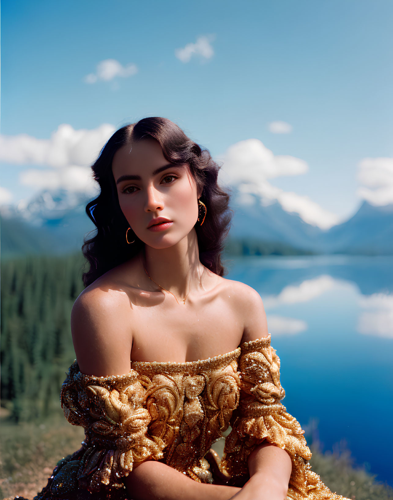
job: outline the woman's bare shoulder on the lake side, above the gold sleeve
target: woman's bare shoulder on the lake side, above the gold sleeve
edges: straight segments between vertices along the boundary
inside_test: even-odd
[[[232,279],[222,278],[225,293],[232,299],[233,307],[243,321],[241,342],[248,342],[268,335],[266,313],[259,293],[251,286]]]

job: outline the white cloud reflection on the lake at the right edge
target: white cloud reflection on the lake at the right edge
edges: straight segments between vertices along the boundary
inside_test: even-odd
[[[393,338],[393,295],[373,293],[360,298],[363,310],[358,317],[357,331],[366,335]]]

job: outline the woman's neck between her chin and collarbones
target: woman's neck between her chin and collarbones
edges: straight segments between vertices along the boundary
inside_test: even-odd
[[[171,292],[177,301],[202,286],[204,266],[199,261],[195,230],[168,248],[157,249],[145,245],[142,264],[151,280]]]

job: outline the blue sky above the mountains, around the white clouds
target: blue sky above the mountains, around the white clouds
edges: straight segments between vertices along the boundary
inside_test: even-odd
[[[257,139],[274,156],[305,162],[304,171],[270,175],[269,189],[305,197],[337,220],[362,197],[377,203],[385,178],[378,204],[393,202],[392,21],[388,0],[3,0],[6,199],[33,195],[37,169],[57,175],[67,166],[9,152],[11,139],[19,147],[13,136],[49,139],[63,123],[93,130],[165,116],[217,158]],[[200,52],[189,60],[176,52],[187,44]],[[123,76],[86,83],[107,59]],[[271,131],[276,121],[290,131]]]

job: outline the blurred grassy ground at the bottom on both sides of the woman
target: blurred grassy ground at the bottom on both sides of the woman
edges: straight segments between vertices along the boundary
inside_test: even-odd
[[[82,439],[82,429],[70,425],[61,415],[40,424],[14,424],[2,418],[0,498],[35,496],[56,462],[78,449]],[[214,447],[222,453],[222,441]],[[393,500],[393,489],[377,483],[364,469],[352,467],[349,452],[322,454],[314,446],[310,463],[332,491],[354,500]]]

